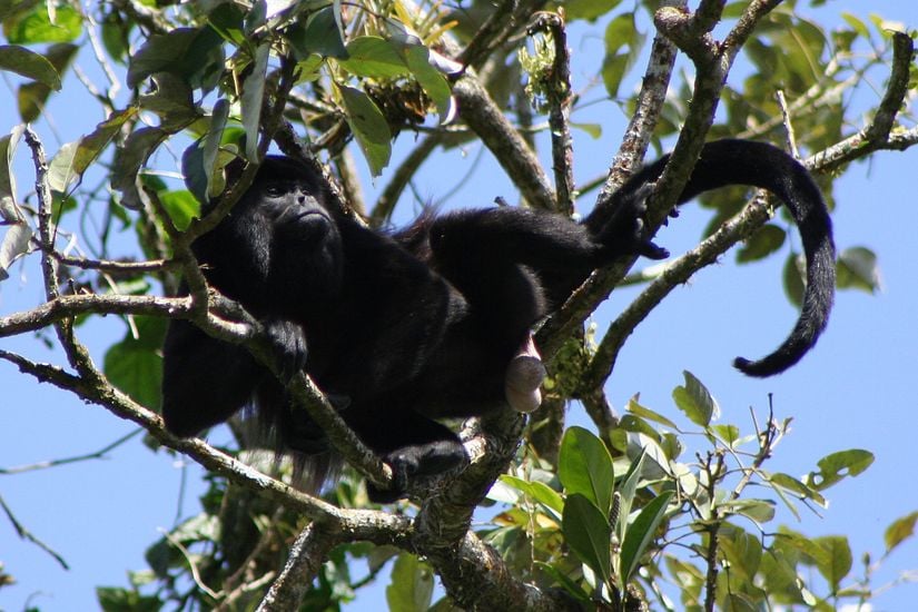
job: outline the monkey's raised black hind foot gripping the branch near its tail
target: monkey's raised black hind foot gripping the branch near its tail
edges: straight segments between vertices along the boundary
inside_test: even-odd
[[[599,240],[612,255],[642,255],[649,259],[665,259],[670,251],[653,243],[646,223],[646,199],[653,184],[644,184],[632,194],[620,196],[615,211],[600,230]]]

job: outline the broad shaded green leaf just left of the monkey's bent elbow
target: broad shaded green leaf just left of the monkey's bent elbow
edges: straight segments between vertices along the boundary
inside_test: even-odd
[[[159,349],[166,338],[166,319],[134,317],[137,337],[130,330],[112,345],[105,357],[108,379],[135,402],[150,409],[159,408],[162,383],[162,357]]]

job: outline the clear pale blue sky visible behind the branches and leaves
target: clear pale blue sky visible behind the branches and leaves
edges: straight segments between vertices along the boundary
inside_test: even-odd
[[[816,18],[825,21],[827,14],[837,16],[842,10],[863,14],[865,4],[829,1]],[[875,0],[869,10],[918,28],[918,4],[914,2]],[[598,52],[595,45],[601,41],[573,40],[575,65],[578,55]],[[6,85],[0,87],[9,96]],[[52,102],[51,112],[60,140],[55,140],[47,125],[39,126],[51,151],[101,119],[91,115],[95,107],[75,106],[72,100],[60,98]],[[0,107],[0,131],[16,121],[9,105]],[[575,134],[579,179],[603,171],[623,126],[623,117],[620,124],[612,122],[602,141]],[[19,157],[22,162],[24,149]],[[417,191],[436,199],[464,176],[475,157],[472,150],[467,157],[456,155],[431,164],[417,181]],[[478,165],[486,178],[464,186],[453,201],[484,206],[495,196],[515,199],[490,156]],[[644,405],[672,416],[677,411],[671,391],[682,383],[682,371],[689,369],[717,396],[723,421],[746,431],[751,427],[749,407],[763,415],[768,394],[773,394],[776,414],[793,416],[794,421],[791,435],[768,464],[772,471],[802,475],[835,451],[873,452],[877,461],[867,473],[830,491],[828,511],[820,516],[805,512],[799,523],[791,516],[784,519],[792,529],[810,535],[849,535],[856,560],[866,552],[879,557],[886,526],[918,510],[918,486],[914,484],[918,422],[918,267],[914,260],[918,240],[910,223],[916,168],[918,150],[882,152],[869,164],[855,166],[837,182],[837,243],[840,248],[872,248],[879,256],[884,289],[875,296],[839,294],[828,330],[799,366],[767,381],[746,378],[730,366],[736,355],[757,356],[773,348],[797,313],[783,298],[780,257],[737,268],[728,256],[675,290],[651,314],[631,337],[606,387],[616,407],[640,393]],[[30,175],[20,179],[20,190],[28,189],[30,180]],[[378,185],[385,185],[385,179]],[[591,201],[591,197],[584,198],[584,206]],[[659,235],[658,243],[679,254],[695,244],[705,221],[704,213],[689,205]],[[18,277],[0,285],[0,314],[41,300],[34,260],[14,274]],[[608,320],[633,296],[628,290],[616,292],[596,320]],[[97,318],[82,328],[82,337],[99,362],[105,348],[124,333],[116,317]],[[31,338],[2,338],[0,347],[62,363],[59,353]],[[36,384],[4,363],[0,363],[0,467],[81,455],[134,428],[98,406]],[[585,422],[580,407],[571,408],[570,421]],[[226,434],[218,431],[214,437],[225,440]],[[0,520],[0,561],[19,580],[17,586],[0,590],[0,610],[19,610],[27,602],[46,611],[91,610],[96,608],[97,585],[125,585],[128,570],[146,567],[144,551],[159,536],[159,530],[172,525],[177,515],[197,511],[195,491],[200,471],[189,466],[189,493],[179,506],[180,467],[165,453],[152,454],[135,438],[101,461],[6,476],[0,481],[0,494],[29,530],[67,559],[71,570],[62,571]],[[875,584],[895,580],[908,570],[918,570],[915,541],[884,563]],[[353,609],[378,609],[376,596],[378,590]],[[878,609],[905,612],[914,610],[915,601],[918,585],[911,584],[881,595],[877,604]]]

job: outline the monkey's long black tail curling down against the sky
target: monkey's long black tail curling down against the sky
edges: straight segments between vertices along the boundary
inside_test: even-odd
[[[625,197],[660,178],[664,156],[625,182]],[[807,256],[807,288],[797,324],[781,345],[761,359],[737,357],[733,365],[749,376],[771,376],[789,368],[816,344],[826,328],[836,286],[832,223],[822,194],[809,171],[781,149],[766,142],[723,139],[708,142],[679,197],[683,204],[703,191],[727,185],[750,185],[778,196],[790,210]],[[618,199],[619,194],[613,196]],[[590,224],[588,218],[586,223]]]

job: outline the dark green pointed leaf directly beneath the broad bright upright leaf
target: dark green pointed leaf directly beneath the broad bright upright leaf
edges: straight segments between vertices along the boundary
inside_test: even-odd
[[[564,540],[603,582],[612,579],[612,529],[609,520],[585,495],[572,493],[564,502],[561,522]]]

